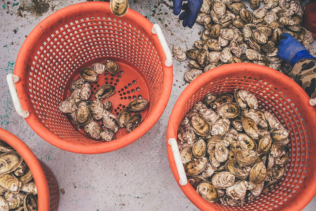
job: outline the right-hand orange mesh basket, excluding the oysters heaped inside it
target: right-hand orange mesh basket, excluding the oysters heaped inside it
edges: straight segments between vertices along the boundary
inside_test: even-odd
[[[174,145],[176,149],[178,147],[176,144],[171,147],[168,143],[175,142],[180,121],[196,102],[203,100],[208,93],[233,92],[237,88],[252,92],[259,101],[258,108],[276,115],[290,131],[291,157],[287,163],[286,173],[275,189],[261,194],[258,200],[246,203],[242,207],[229,207],[207,202],[190,183],[181,185],[186,182],[186,178],[184,177],[185,181],[179,181],[173,156]],[[182,191],[201,210],[303,209],[316,194],[316,153],[313,153],[316,150],[316,109],[309,104],[309,100],[305,91],[289,77],[257,64],[222,65],[194,79],[175,103],[167,128],[169,163]],[[174,151],[176,153],[176,150]],[[179,169],[180,167],[178,166]],[[184,170],[179,172],[181,175]]]

